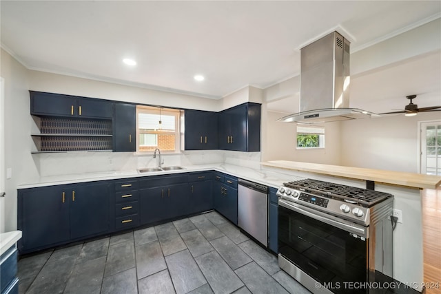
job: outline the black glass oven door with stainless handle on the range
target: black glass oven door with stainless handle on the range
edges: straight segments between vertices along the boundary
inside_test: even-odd
[[[367,282],[367,227],[279,200],[278,252],[334,293],[367,293],[348,288]]]

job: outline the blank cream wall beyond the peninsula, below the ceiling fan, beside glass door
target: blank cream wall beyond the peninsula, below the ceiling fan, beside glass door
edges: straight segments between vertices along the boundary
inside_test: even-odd
[[[418,121],[441,112],[342,121],[341,165],[418,173]]]

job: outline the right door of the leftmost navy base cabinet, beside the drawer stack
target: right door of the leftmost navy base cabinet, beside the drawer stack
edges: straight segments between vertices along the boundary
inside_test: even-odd
[[[70,238],[107,233],[110,229],[110,182],[83,184],[72,188]]]

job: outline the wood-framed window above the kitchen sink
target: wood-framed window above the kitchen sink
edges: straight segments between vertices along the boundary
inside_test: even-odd
[[[158,148],[161,152],[179,151],[179,118],[177,109],[162,107],[136,107],[136,151],[152,152]]]

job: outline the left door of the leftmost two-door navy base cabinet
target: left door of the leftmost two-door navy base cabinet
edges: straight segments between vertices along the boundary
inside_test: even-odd
[[[20,251],[47,248],[70,239],[68,186],[19,190]]]

